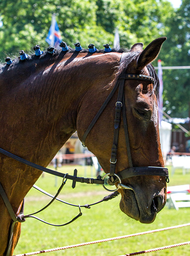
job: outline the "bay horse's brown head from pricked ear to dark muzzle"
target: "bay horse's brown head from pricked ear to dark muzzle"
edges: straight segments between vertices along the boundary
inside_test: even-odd
[[[158,38],[144,50],[141,43],[133,45],[131,51],[126,54],[124,62],[120,64],[120,73],[124,72],[130,76],[154,76],[154,82],[135,78],[125,81],[124,98],[129,147],[126,148],[124,122],[122,121],[118,135],[117,158],[114,160],[116,174],[122,170],[127,172],[130,167],[139,167],[139,171],[141,171],[140,167],[142,169],[143,167],[163,167],[158,127],[159,82],[150,63],[158,56],[165,40],[166,37]],[[89,150],[97,156],[106,173],[110,172],[109,159],[114,137],[115,113],[111,104],[117,102],[116,96],[117,93],[101,113],[86,140]],[[82,106],[80,111],[83,111]],[[129,162],[129,155],[132,166]],[[166,177],[136,175],[124,178],[122,184],[131,189],[118,190],[122,195],[120,209],[129,217],[142,223],[154,221],[156,214],[166,203]]]

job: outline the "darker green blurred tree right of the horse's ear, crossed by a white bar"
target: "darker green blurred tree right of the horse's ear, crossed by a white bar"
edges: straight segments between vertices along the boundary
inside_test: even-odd
[[[165,66],[190,65],[190,2],[183,0],[180,8],[167,20],[168,40],[159,58]],[[189,116],[190,70],[163,70],[163,106],[171,117]]]

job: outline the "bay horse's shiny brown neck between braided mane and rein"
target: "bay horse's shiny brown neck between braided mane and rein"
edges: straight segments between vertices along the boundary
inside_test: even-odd
[[[30,63],[23,65],[22,75],[14,80],[17,86],[0,103],[4,108],[2,147],[6,145],[6,150],[47,166],[76,130],[83,98],[91,90],[98,93],[99,87],[114,78],[113,68],[120,54],[87,55],[66,54],[50,65],[32,62],[34,72],[26,72]]]

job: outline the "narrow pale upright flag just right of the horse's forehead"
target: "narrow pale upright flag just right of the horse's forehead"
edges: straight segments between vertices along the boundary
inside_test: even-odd
[[[158,78],[160,81],[160,88],[159,88],[159,102],[158,102],[158,117],[159,117],[159,124],[161,125],[161,120],[162,120],[162,109],[163,109],[163,98],[162,98],[162,93],[163,93],[163,80],[162,80],[162,65],[161,65],[161,60],[158,60]]]

